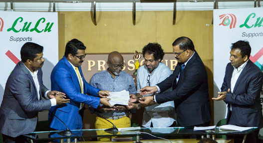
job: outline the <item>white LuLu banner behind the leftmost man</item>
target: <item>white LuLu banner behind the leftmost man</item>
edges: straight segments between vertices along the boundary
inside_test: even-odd
[[[26,42],[44,47],[43,82],[50,89],[50,73],[58,62],[57,12],[0,11],[0,104],[5,82],[21,60],[20,49]]]

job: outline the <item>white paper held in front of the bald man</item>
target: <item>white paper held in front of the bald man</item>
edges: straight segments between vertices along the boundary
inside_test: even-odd
[[[110,98],[110,105],[128,105],[130,99],[129,91],[122,90],[120,92],[110,92],[109,94],[110,96],[108,96],[107,98]]]

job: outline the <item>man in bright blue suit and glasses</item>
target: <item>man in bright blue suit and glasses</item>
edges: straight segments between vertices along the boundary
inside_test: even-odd
[[[84,104],[97,108],[99,104],[111,106],[108,102],[109,91],[94,88],[88,84],[81,71],[81,64],[85,60],[84,44],[72,39],[66,44],[65,54],[51,72],[51,88],[64,92],[70,99],[66,105],[53,106],[48,113],[51,129],[66,130],[62,120],[70,130],[82,129]],[[86,95],[88,94],[88,95]],[[89,96],[91,95],[91,96]],[[57,116],[58,118],[56,118]]]

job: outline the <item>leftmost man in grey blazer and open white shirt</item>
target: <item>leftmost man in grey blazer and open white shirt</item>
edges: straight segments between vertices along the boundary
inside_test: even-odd
[[[43,47],[27,42],[20,51],[19,62],[9,75],[0,107],[0,132],[3,143],[23,143],[22,135],[35,130],[37,114],[51,106],[69,103],[65,94],[49,91],[42,81]],[[49,100],[43,100],[42,97]]]

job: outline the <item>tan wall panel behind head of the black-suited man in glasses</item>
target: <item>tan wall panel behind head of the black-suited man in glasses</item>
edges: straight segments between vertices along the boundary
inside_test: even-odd
[[[172,25],[171,11],[158,11],[157,41],[165,52],[172,52],[172,43],[181,36],[189,37],[202,59],[213,59],[213,12],[177,11],[176,24]]]

